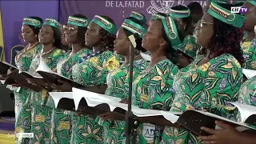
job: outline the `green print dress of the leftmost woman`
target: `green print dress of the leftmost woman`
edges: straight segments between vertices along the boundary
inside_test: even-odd
[[[15,63],[19,70],[28,71],[34,54],[40,45],[36,45],[29,50],[24,48],[15,57]],[[15,130],[16,133],[30,133],[31,130],[31,102],[30,92],[22,87],[13,87],[8,85],[10,90],[14,90],[15,98]],[[29,138],[18,138],[17,143],[28,143]]]

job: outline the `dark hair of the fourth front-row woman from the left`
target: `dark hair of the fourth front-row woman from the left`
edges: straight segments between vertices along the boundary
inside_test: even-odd
[[[105,18],[113,25],[115,25],[114,20],[108,16],[101,15],[102,18]],[[99,30],[99,34],[102,36],[102,47],[106,50],[114,51],[114,40],[116,38],[115,34],[110,34],[108,31],[101,29]]]

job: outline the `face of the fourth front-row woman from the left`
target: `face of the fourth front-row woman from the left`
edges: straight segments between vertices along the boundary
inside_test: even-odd
[[[102,39],[102,36],[99,34],[99,31],[102,30],[100,26],[98,26],[94,22],[90,22],[87,31],[86,31],[86,46],[96,46]]]

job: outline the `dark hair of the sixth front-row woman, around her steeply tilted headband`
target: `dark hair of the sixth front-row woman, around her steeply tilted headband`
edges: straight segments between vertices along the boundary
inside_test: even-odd
[[[158,13],[159,15],[162,15],[164,17],[166,17],[166,14],[163,13]],[[158,21],[162,22],[161,19],[158,19]],[[178,30],[178,37],[180,38],[181,42],[183,41],[185,35],[184,35],[184,30],[182,25],[174,20],[174,23],[176,25],[176,28]],[[173,62],[174,64],[176,64],[178,62],[178,54],[177,54],[177,50],[174,50],[173,46],[171,46],[171,42],[169,40],[169,38],[166,35],[166,30],[164,29],[164,26],[162,26],[162,34],[163,34],[163,38],[166,41],[166,57]]]

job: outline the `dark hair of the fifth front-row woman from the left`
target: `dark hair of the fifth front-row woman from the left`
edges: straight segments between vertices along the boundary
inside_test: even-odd
[[[147,26],[147,24],[146,24],[145,22],[141,22],[141,21],[139,21],[139,20],[136,19],[136,18],[128,17],[128,18],[126,18],[126,19],[130,19],[131,21],[137,23],[138,25],[144,27],[145,29],[148,28],[148,26]],[[133,33],[130,32],[129,30],[126,30],[126,29],[123,29],[123,30],[125,31],[127,37],[129,37],[130,35],[133,34]],[[136,38],[136,43],[137,43],[137,46],[136,46],[136,49],[137,49],[137,50],[140,50],[140,51],[142,51],[142,52],[146,52],[146,50],[142,47],[142,38],[140,38],[140,37],[139,37],[139,38]]]

